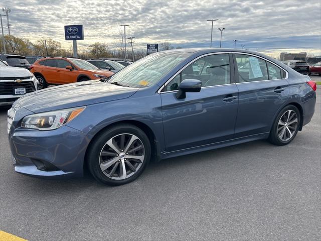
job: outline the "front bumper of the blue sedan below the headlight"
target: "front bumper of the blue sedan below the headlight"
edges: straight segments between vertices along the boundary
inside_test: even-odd
[[[87,134],[68,126],[52,131],[11,127],[9,132],[15,171],[49,179],[82,177],[89,141]]]

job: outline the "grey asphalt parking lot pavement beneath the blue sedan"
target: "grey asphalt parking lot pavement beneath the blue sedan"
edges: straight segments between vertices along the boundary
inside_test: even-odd
[[[1,108],[0,229],[28,240],[320,240],[320,97],[287,146],[256,141],[151,163],[118,187],[89,174],[16,174]]]

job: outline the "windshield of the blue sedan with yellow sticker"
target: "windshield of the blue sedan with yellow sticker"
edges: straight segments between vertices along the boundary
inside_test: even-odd
[[[158,82],[184,59],[186,52],[159,52],[148,55],[113,75],[109,81],[129,87],[147,87]]]

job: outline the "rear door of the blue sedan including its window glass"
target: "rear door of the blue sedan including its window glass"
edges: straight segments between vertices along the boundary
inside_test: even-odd
[[[255,55],[233,53],[239,107],[234,138],[269,132],[289,95],[286,73]]]

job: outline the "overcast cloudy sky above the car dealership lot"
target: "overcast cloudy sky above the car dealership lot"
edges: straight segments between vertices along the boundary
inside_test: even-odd
[[[10,7],[11,33],[36,41],[39,35],[61,42],[64,25],[83,24],[85,40],[79,47],[94,42],[115,47],[121,42],[121,24],[129,24],[126,38],[134,36],[136,48],[147,43],[168,41],[174,46],[209,47],[214,22],[213,46],[237,47],[269,53],[321,52],[321,1],[103,1],[103,0],[0,0]],[[3,18],[7,24],[6,18]],[[8,29],[5,28],[5,34]],[[38,34],[38,35],[36,35]],[[72,42],[72,41],[71,41]]]

